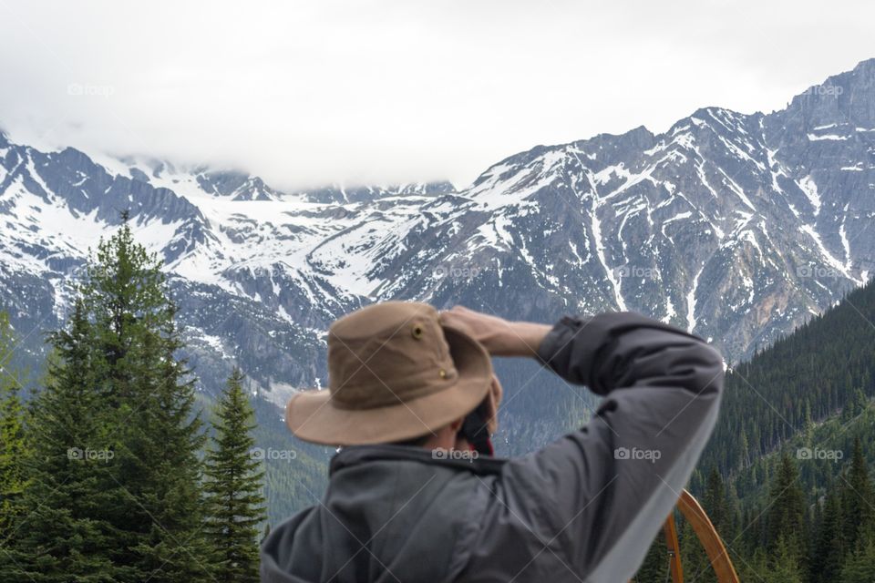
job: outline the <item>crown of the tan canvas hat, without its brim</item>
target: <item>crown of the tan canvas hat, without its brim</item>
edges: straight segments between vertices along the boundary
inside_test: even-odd
[[[438,311],[426,303],[377,303],[328,330],[328,384],[338,408],[407,403],[457,378]]]

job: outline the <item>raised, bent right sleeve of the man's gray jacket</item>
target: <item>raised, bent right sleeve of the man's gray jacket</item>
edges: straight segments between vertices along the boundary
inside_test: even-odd
[[[630,312],[565,317],[539,357],[605,398],[582,429],[506,465],[505,491],[530,493],[509,497],[510,511],[530,522],[543,553],[564,556],[586,581],[627,581],[714,428],[722,358],[694,335]]]

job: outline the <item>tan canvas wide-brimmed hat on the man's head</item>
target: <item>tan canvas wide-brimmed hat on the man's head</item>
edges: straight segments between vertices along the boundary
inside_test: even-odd
[[[473,411],[491,380],[486,349],[432,306],[377,303],[331,325],[329,388],[295,394],[285,420],[317,444],[402,441]]]

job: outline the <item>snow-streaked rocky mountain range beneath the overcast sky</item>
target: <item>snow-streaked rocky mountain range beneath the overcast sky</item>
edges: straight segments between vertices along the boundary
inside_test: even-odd
[[[0,134],[0,308],[38,350],[28,332],[57,327],[88,248],[129,210],[205,384],[238,359],[277,404],[324,383],[331,320],[392,298],[541,321],[635,310],[734,362],[875,271],[873,189],[875,59],[771,114],[705,107],[664,134],[539,146],[458,191],[288,193]]]

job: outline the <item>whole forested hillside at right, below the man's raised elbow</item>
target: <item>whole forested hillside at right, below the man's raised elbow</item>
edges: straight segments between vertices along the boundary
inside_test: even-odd
[[[690,489],[742,581],[875,580],[875,281],[726,376]],[[681,522],[685,580],[714,574]],[[639,582],[667,573],[657,537]]]

